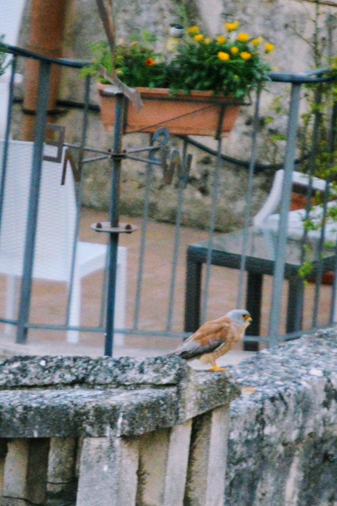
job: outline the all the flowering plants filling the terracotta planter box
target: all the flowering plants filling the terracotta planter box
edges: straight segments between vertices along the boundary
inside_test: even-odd
[[[237,24],[231,23],[235,27]],[[237,34],[236,29],[230,31],[228,40],[224,36],[211,40],[197,26],[187,29],[188,35],[177,44],[171,62],[154,51],[155,39],[148,31],[130,37],[131,43],[118,45],[114,60],[108,44],[98,41],[92,45],[93,64],[82,74],[100,74],[103,65],[109,72],[115,69],[128,86],[170,88],[173,93],[187,94],[192,90],[211,90],[215,95],[222,93],[243,100],[253,89],[263,87],[270,67],[259,54],[262,39]],[[240,40],[240,36],[247,36],[247,40]],[[271,44],[266,45],[267,52],[272,49]]]

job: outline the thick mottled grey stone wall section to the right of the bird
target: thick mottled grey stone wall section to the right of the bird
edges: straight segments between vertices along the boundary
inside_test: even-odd
[[[228,370],[243,393],[230,406],[226,504],[337,504],[336,329]]]

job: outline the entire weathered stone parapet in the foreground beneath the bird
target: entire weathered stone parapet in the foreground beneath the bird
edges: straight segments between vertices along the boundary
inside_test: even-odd
[[[229,374],[178,357],[6,359],[2,504],[336,506],[336,370],[335,329]]]

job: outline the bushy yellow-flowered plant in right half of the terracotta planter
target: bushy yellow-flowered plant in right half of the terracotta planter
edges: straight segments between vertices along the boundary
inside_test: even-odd
[[[262,37],[252,38],[237,32],[238,22],[226,23],[227,34],[214,39],[200,33],[198,26],[187,29],[189,38],[177,47],[171,62],[172,89],[212,90],[242,100],[269,79],[270,66],[264,62],[259,48]],[[274,49],[264,45],[269,53]]]

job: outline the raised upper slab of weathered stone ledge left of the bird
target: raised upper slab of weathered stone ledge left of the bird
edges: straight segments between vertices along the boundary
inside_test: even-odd
[[[0,389],[65,385],[177,385],[190,367],[179,357],[14,356],[0,362]]]

